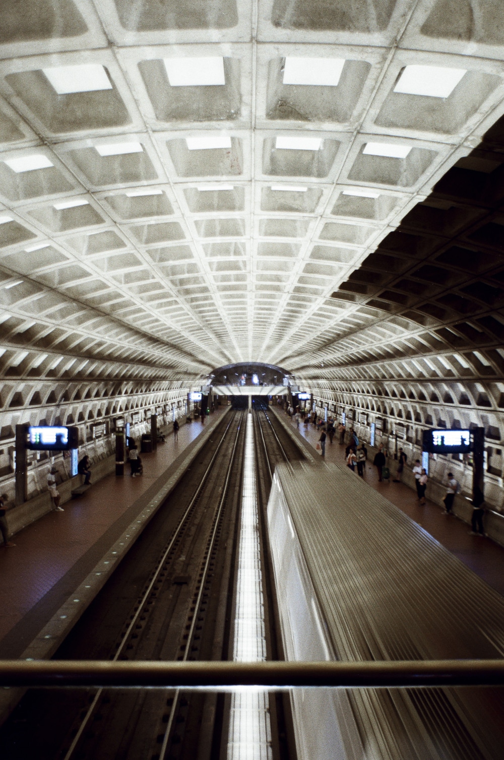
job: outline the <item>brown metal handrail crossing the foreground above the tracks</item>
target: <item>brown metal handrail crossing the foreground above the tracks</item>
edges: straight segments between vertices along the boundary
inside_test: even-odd
[[[163,689],[257,686],[375,688],[502,686],[504,660],[366,662],[112,662],[0,660],[0,686],[101,686]]]

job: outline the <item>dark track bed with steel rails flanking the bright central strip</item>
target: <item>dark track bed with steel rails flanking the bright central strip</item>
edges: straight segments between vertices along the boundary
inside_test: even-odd
[[[209,449],[198,454],[182,483],[121,563],[112,583],[90,606],[55,658],[233,657],[246,416],[233,413],[216,429]],[[258,413],[254,429],[259,522],[264,536],[267,491],[263,486],[269,489],[277,461],[301,455],[271,413]],[[267,657],[281,659],[268,550],[266,542],[261,543]],[[229,697],[210,692],[98,689],[63,694],[30,690],[0,730],[2,758],[214,760],[225,752],[228,708]],[[270,713],[272,756],[274,760],[292,758],[287,740],[290,719],[282,697],[271,699]]]

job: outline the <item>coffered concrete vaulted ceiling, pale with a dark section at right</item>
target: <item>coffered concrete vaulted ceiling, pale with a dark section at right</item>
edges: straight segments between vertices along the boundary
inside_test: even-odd
[[[499,0],[2,3],[2,375],[502,376],[503,43]]]

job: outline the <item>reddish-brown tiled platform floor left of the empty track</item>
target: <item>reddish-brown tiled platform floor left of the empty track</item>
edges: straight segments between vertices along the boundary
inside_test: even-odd
[[[118,540],[159,488],[163,474],[230,407],[217,407],[204,426],[183,425],[152,454],[142,454],[144,474],[108,475],[84,496],[66,502],[0,547],[0,658],[19,657],[56,610]],[[189,452],[188,452],[189,453]]]

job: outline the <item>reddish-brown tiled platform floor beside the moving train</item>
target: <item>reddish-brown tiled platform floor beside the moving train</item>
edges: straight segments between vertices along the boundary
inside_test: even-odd
[[[273,408],[284,423],[296,429],[296,423],[289,420],[287,414],[279,407]],[[315,448],[320,432],[312,424],[305,428],[303,423],[300,423],[298,432]],[[334,436],[332,444],[328,439],[325,446],[325,461],[343,466],[345,464],[344,451],[344,446],[338,444],[337,435]],[[358,477],[357,472],[355,477]],[[428,499],[426,505],[421,507],[416,492],[404,483],[379,483],[378,473],[376,467],[372,466],[372,461],[366,462],[364,480],[504,596],[504,549],[502,546],[490,539],[469,535],[471,526],[452,515],[444,515],[442,509]]]

